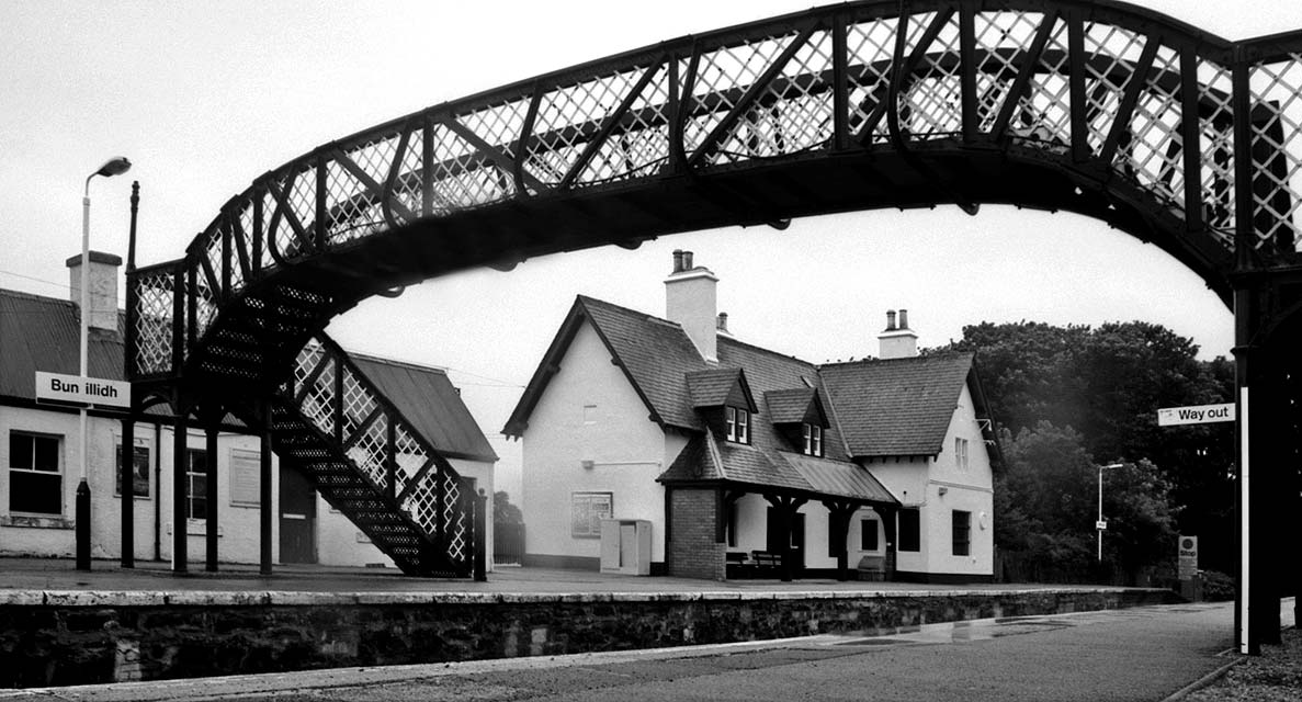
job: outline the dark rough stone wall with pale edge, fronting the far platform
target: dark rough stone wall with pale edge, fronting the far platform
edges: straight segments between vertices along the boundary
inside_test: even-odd
[[[1170,602],[1167,590],[0,593],[0,686],[555,655]]]

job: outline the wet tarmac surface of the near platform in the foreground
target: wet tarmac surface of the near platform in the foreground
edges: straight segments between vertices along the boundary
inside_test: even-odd
[[[1281,607],[1285,625],[1292,602]],[[1229,603],[781,641],[0,692],[0,702],[1164,701],[1238,659]]]

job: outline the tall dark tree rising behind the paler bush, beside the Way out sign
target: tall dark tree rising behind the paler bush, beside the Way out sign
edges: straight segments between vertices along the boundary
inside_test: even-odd
[[[949,348],[976,352],[991,414],[1009,436],[1047,421],[1074,427],[1101,462],[1147,461],[1184,507],[1178,531],[1200,535],[1203,567],[1232,568],[1233,426],[1156,422],[1157,408],[1232,401],[1232,361],[1198,361],[1190,339],[1147,322],[986,322]]]

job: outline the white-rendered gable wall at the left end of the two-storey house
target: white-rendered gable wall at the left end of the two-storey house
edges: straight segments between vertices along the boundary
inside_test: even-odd
[[[585,322],[522,439],[527,554],[600,557],[599,538],[572,535],[570,503],[574,492],[611,492],[615,518],[651,521],[651,560],[664,561],[664,488],[655,478],[684,440],[667,438],[647,414]]]

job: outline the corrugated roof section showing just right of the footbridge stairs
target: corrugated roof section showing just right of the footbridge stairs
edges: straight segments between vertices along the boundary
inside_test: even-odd
[[[497,460],[447,372],[355,353],[349,358],[440,453],[473,461]]]

